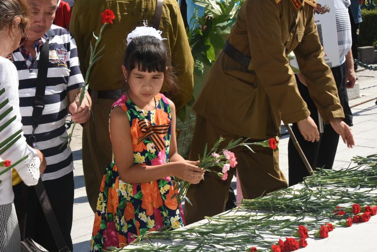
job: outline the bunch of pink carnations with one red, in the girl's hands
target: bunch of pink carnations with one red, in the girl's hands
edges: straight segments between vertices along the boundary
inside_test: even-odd
[[[220,139],[215,143],[215,145],[208,152],[208,146],[204,148],[203,156],[199,156],[199,167],[205,169],[207,172],[216,173],[222,180],[228,179],[228,171],[230,168],[235,168],[237,165],[237,159],[233,152],[229,151],[230,149],[236,147],[246,147],[250,151],[254,152],[250,145],[260,145],[263,147],[268,147],[273,150],[277,148],[277,143],[274,138],[267,139],[263,142],[248,142],[248,139],[237,139],[235,141],[231,140],[224,149],[219,150],[220,144],[225,139],[220,137]],[[243,140],[243,141],[242,141]],[[221,172],[219,172],[221,168]],[[185,197],[187,190],[189,190],[190,182],[175,178],[174,189],[178,191],[177,201],[181,202],[183,199],[186,199],[190,204],[190,199]]]

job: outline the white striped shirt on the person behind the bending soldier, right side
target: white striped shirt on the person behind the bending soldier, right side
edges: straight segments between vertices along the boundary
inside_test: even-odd
[[[350,5],[350,0],[335,1],[335,20],[340,58],[339,66],[346,61],[345,56],[352,46],[351,23],[348,14],[348,7]]]

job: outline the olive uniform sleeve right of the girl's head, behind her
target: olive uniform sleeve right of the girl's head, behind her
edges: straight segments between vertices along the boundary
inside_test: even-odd
[[[172,66],[177,71],[179,90],[176,95],[171,97],[171,100],[179,110],[193,97],[194,59],[178,6],[175,10],[176,12],[172,13],[174,16],[170,17],[174,34],[169,34],[169,43],[171,43]]]

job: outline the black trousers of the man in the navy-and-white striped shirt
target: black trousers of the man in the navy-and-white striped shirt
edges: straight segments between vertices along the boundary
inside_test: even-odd
[[[43,185],[66,245],[73,251],[71,239],[74,201],[73,171],[56,179],[45,180],[43,181]],[[13,186],[17,214],[20,213],[21,207],[21,188],[21,183]],[[32,187],[30,187],[28,193],[27,206],[26,237],[32,238],[50,252],[57,251],[55,240],[53,239],[35,190]]]

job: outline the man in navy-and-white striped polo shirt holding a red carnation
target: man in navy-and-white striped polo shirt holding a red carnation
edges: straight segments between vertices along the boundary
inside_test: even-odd
[[[29,0],[28,4],[31,12],[31,25],[26,31],[28,40],[11,56],[19,75],[22,129],[27,139],[31,135],[35,137],[34,147],[46,158],[47,168],[41,178],[66,244],[72,250],[73,156],[67,144],[61,147],[65,137],[68,136],[65,128],[66,98],[68,95],[71,103],[68,109],[72,119],[78,123],[84,123],[89,119],[91,101],[87,94],[88,99],[84,99],[81,106],[78,106],[77,94],[84,80],[79,68],[75,40],[66,29],[52,25],[57,0]],[[40,56],[45,46],[48,46],[46,51],[48,62],[44,65],[47,77],[37,83],[38,72],[43,72],[42,67],[38,69],[38,65],[39,62],[43,62]],[[45,85],[44,94],[42,93],[44,109],[39,125],[33,132],[32,125],[35,118],[32,114],[36,109],[33,104],[38,85]],[[16,209],[20,209],[21,184],[14,189]],[[57,251],[34,190],[29,192],[27,206],[26,235],[48,251]]]

